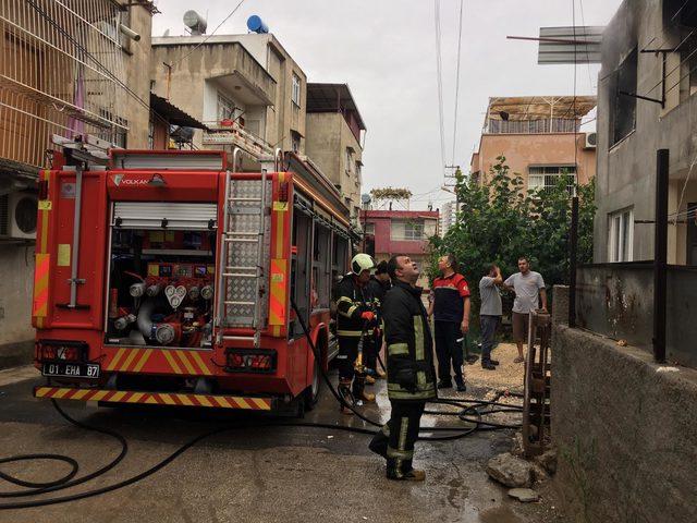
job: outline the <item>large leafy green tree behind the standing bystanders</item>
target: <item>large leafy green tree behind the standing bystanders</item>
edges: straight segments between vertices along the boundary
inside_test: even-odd
[[[497,263],[509,276],[517,271],[517,258],[527,256],[548,285],[568,282],[568,229],[571,197],[568,177],[553,187],[525,192],[518,173],[511,173],[505,157],[497,158],[487,184],[458,177],[455,192],[460,211],[444,238],[431,238],[431,277],[438,256],[452,252],[470,282],[478,302],[479,279]],[[578,262],[592,259],[594,183],[576,187],[579,197]]]

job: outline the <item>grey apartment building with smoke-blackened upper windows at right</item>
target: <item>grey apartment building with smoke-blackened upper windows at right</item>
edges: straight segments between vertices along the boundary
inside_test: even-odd
[[[626,0],[604,31],[597,263],[653,259],[656,154],[667,148],[668,263],[697,265],[696,34],[697,4],[684,0]]]

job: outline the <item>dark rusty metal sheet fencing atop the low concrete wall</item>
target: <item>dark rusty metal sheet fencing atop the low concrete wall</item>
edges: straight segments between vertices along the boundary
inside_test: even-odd
[[[668,266],[667,361],[697,367],[697,267]],[[653,264],[594,264],[576,272],[576,325],[647,352],[653,337]]]

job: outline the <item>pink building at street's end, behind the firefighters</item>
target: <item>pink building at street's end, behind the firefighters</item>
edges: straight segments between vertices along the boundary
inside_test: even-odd
[[[439,218],[438,210],[362,210],[365,252],[376,262],[406,254],[426,273],[428,239],[439,233]],[[428,278],[423,277],[418,284],[428,287]]]

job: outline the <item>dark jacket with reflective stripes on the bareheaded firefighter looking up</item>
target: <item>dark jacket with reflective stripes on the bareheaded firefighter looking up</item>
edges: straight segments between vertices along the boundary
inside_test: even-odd
[[[390,400],[436,398],[433,342],[421,289],[395,281],[382,304]]]

